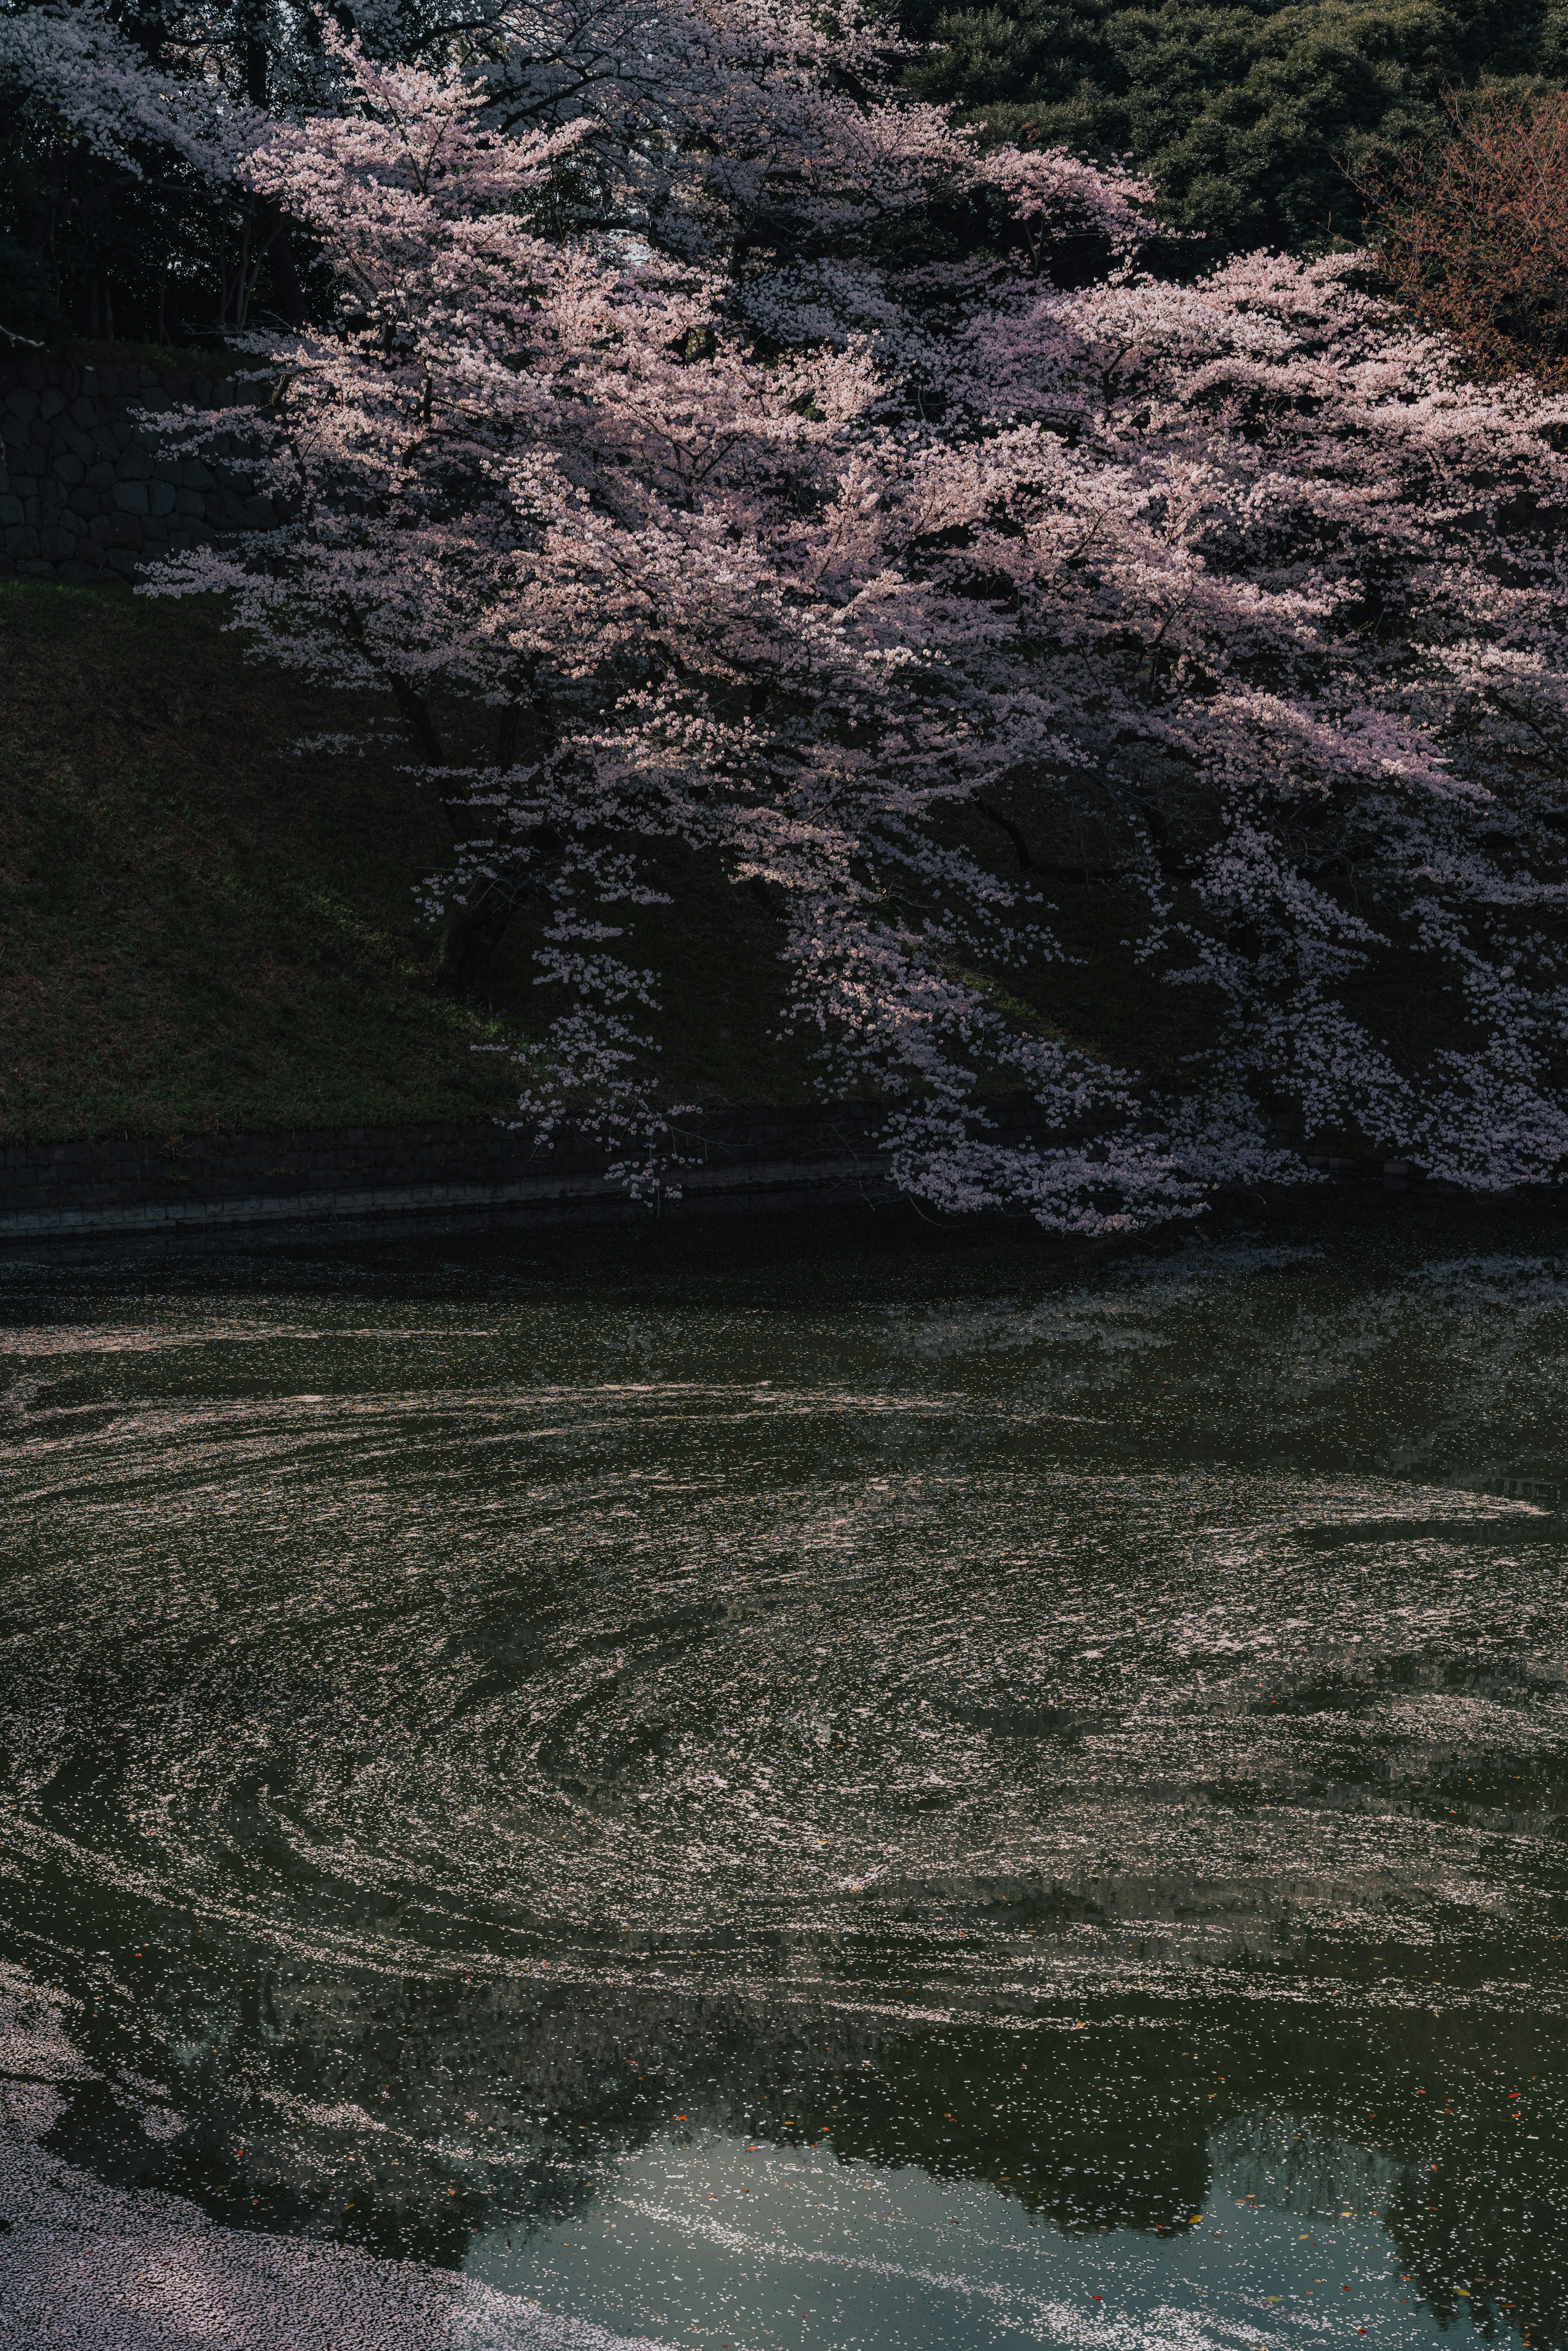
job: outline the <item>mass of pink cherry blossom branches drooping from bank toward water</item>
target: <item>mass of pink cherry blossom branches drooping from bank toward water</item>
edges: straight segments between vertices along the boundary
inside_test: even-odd
[[[1465,383],[1354,263],[1140,277],[1138,183],[978,155],[844,92],[811,26],[736,24],[668,141],[621,146],[496,59],[329,40],[346,108],[240,165],[339,284],[259,367],[282,520],[155,583],[400,712],[451,818],[454,971],[527,905],[564,1006],[522,1114],[651,1180],[628,912],[677,842],[766,896],[823,1089],[877,1091],[940,1206],[1197,1213],[1300,1166],[1281,1114],[1559,1173],[1568,411]],[[900,263],[933,188],[1011,205],[1009,254]],[[1112,270],[1060,292],[1086,226]],[[1180,1081],[1053,1023],[1084,891],[1201,992]],[[1448,990],[1429,1034],[1408,990],[1385,1018],[1401,971]]]

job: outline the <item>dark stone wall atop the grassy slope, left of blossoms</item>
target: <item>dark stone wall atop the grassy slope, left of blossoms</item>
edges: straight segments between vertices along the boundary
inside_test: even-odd
[[[235,409],[247,388],[141,367],[0,360],[0,574],[129,581],[143,564],[275,517],[244,475],[242,430],[202,458],[160,456],[136,414]],[[242,423],[242,418],[235,418]]]

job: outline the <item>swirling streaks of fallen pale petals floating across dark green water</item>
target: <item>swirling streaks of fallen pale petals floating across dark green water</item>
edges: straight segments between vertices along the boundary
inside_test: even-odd
[[[1559,2001],[1568,1554],[1472,1491],[1552,1469],[1547,1255],[49,1288],[7,1342],[5,1947],[82,2003],[118,2088],[54,2128],[103,2177],[451,2262],[599,2193],[576,2114],[625,2161],[672,2128],[628,2048],[745,2132],[788,2012],[813,2078],[905,2083],[865,2161],[940,2177],[922,2034],[994,2069],[1126,2001]],[[973,2161],[1065,2229],[1204,2193]]]

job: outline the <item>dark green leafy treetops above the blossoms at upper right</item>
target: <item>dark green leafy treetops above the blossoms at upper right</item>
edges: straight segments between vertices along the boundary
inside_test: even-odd
[[[1568,75],[1561,0],[905,0],[903,21],[943,45],[910,71],[922,96],[1020,146],[1131,158],[1201,233],[1192,259],[1359,242],[1345,165],[1441,134],[1446,89]]]

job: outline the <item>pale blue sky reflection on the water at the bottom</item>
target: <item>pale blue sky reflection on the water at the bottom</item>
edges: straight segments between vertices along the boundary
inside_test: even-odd
[[[1291,2123],[1222,2135],[1201,2210],[1093,2233],[1041,2224],[1006,2184],[947,2182],[917,2163],[656,2139],[576,2222],[527,2243],[489,2231],[470,2266],[625,2332],[719,2342],[1251,2344],[1309,2339],[1326,2320],[1338,2335],[1436,2337],[1446,2313],[1401,2276],[1380,2226],[1399,2170]],[[1293,2186],[1309,2193],[1291,2198]]]

